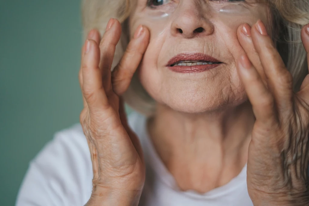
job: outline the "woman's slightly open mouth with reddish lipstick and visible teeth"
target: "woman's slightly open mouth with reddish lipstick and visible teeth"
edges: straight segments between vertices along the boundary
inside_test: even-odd
[[[171,58],[167,67],[180,73],[202,72],[217,67],[219,60],[201,53],[183,53]]]

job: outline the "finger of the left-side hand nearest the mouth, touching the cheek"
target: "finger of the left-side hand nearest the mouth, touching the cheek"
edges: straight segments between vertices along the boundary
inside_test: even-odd
[[[112,72],[112,88],[117,95],[122,95],[131,82],[134,72],[140,64],[149,43],[149,31],[140,25],[125,54]]]

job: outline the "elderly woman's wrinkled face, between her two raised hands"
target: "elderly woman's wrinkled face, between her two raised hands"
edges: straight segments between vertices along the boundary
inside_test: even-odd
[[[258,19],[267,25],[268,13],[256,0],[137,0],[130,36],[140,24],[150,30],[138,71],[143,87],[158,103],[182,112],[243,103],[237,28]]]

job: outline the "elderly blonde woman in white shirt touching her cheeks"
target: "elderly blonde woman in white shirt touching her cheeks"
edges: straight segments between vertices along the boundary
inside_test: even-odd
[[[85,0],[81,125],[32,161],[17,205],[309,205],[308,11]]]

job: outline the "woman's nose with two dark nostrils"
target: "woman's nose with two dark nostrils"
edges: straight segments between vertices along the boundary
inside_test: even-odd
[[[196,36],[206,36],[214,32],[214,26],[209,19],[203,15],[201,8],[193,5],[181,5],[177,11],[174,21],[171,24],[172,36],[182,36],[183,38],[194,38]]]

